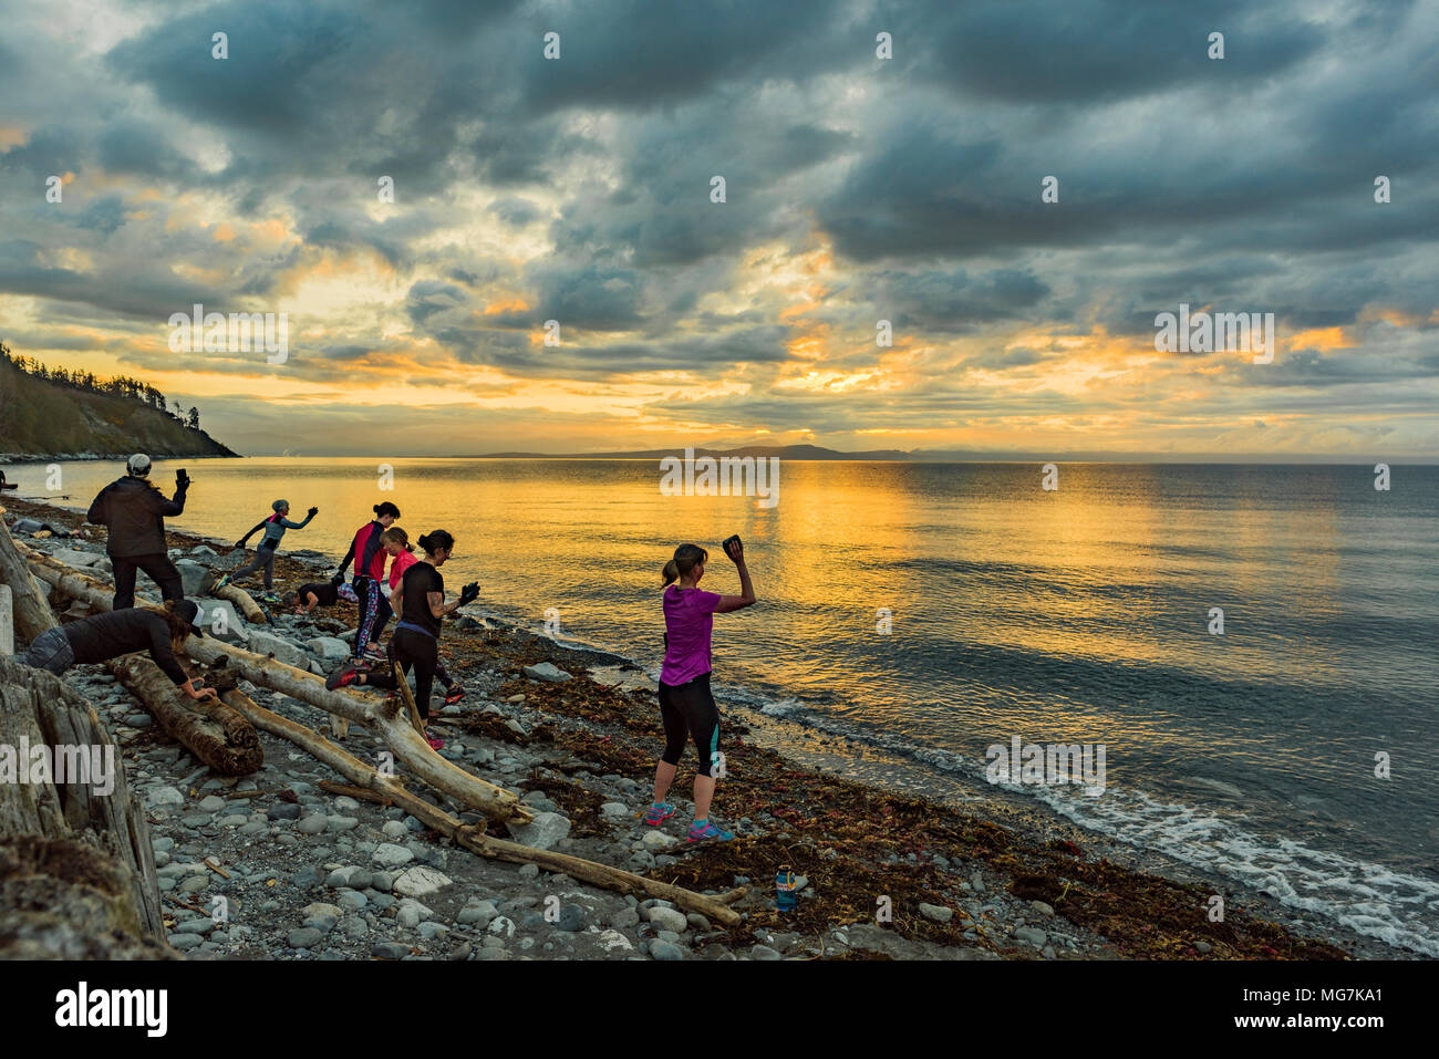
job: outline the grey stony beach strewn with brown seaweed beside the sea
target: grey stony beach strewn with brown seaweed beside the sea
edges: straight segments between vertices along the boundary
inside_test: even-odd
[[[17,541],[109,577],[102,531],[76,512],[4,501]],[[46,530],[45,527],[49,527]],[[59,532],[56,532],[59,531]],[[196,594],[237,565],[229,545],[170,534]],[[282,553],[276,588],[332,563]],[[141,590],[151,590],[141,580]],[[484,596],[482,596],[484,599]],[[226,606],[206,600],[206,606]],[[71,617],[81,616],[76,609]],[[327,673],[348,655],[353,604],[311,617],[279,607],[226,639]],[[494,617],[448,623],[440,656],[466,689],[439,709],[440,755],[522,796],[532,823],[495,836],[613,865],[704,894],[737,886],[738,927],[661,899],[620,895],[537,865],[478,856],[396,806],[350,797],[344,777],[260,732],[263,767],[213,776],[170,741],[115,676],[76,666],[81,692],[122,750],[142,800],[170,945],[189,960],[1345,960],[1404,957],[1333,921],[1235,891],[1059,820],[974,813],[802,767],[741,719],[725,722],[717,816],[735,840],[689,843],[682,761],[678,814],[648,827],[662,745],[653,686],[619,656]],[[256,704],[328,734],[328,715],[265,688]],[[436,699],[439,708],[439,699]],[[351,727],[341,744],[377,763],[384,744]],[[462,807],[416,791],[466,823]],[[791,871],[793,909],[776,906]],[[1207,902],[1225,896],[1223,921]]]

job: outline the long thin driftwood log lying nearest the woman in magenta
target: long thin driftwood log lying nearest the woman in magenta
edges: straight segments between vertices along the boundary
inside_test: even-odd
[[[681,908],[691,912],[701,912],[712,919],[718,919],[725,927],[740,922],[740,914],[730,908],[730,902],[741,896],[745,891],[731,891],[720,896],[705,896],[694,891],[673,886],[659,879],[646,879],[619,868],[610,868],[596,860],[555,853],[548,849],[532,849],[518,842],[505,842],[484,833],[479,827],[462,824],[458,819],[442,809],[432,806],[425,799],[406,790],[393,777],[381,776],[374,767],[367,765],[353,754],[345,753],[335,744],[325,740],[319,732],[295,724],[263,706],[256,705],[240,692],[226,692],[224,701],[248,717],[256,728],[263,728],[273,735],[289,740],[302,747],[309,754],[324,761],[337,773],[355,784],[347,793],[370,801],[389,801],[400,806],[423,824],[448,835],[465,849],[495,860],[508,860],[521,865],[538,865],[545,871],[564,872],[574,879],[583,879],[606,889],[622,894],[648,894],[650,896],[673,901]]]

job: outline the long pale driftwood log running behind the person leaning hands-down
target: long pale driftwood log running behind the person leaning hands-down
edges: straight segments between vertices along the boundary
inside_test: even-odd
[[[109,610],[112,591],[104,581],[78,574],[47,555],[37,555],[27,550],[26,557],[40,580],[98,610]],[[181,650],[196,662],[206,665],[214,665],[224,658],[227,665],[250,683],[278,691],[347,721],[373,728],[394,753],[396,761],[409,768],[416,778],[462,806],[494,820],[528,823],[534,819],[530,809],[519,803],[518,794],[466,773],[430,750],[425,737],[414,731],[407,721],[400,719],[399,699],[376,699],[348,689],[327,691],[325,682],[314,673],[256,655],[252,650],[233,647],[213,636],[191,636],[181,645]]]

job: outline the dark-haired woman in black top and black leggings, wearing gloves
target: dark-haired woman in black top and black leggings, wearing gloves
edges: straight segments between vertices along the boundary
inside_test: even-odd
[[[458,600],[446,603],[445,578],[440,577],[439,567],[453,554],[455,538],[436,530],[422,537],[419,545],[425,548],[425,558],[406,570],[404,580],[400,581],[400,624],[390,637],[390,659],[399,662],[404,673],[414,671],[414,705],[420,711],[420,719],[427,724],[430,689],[440,660],[440,620],[473,601],[479,596],[479,586],[471,581],[460,590]],[[325,681],[325,686],[331,691],[348,685],[393,689],[399,686],[393,672],[393,668],[364,672],[350,663]],[[445,745],[442,740],[427,738],[433,750]]]

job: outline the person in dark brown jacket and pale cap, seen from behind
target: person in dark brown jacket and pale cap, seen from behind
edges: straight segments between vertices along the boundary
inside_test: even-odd
[[[95,496],[86,522],[106,527],[105,551],[115,576],[112,610],[135,606],[135,571],[144,570],[165,600],[183,600],[180,571],[165,550],[165,519],[184,514],[190,476],[176,471],[176,494],[165,499],[150,482],[150,456],[137,452],[125,462],[125,476]]]

